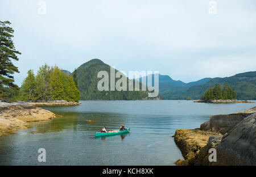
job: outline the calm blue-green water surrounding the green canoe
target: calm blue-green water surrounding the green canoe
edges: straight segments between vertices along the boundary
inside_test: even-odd
[[[198,128],[210,115],[253,106],[159,100],[82,101],[80,106],[44,107],[63,117],[1,136],[0,165],[174,165],[183,158],[171,137],[176,129]],[[131,133],[94,137],[101,127],[118,129],[120,124],[130,127]],[[38,162],[41,147],[46,149],[47,162]]]

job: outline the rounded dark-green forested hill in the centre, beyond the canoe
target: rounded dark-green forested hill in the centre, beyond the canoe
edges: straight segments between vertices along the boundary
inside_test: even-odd
[[[110,66],[98,59],[90,60],[76,69],[77,87],[81,93],[81,100],[141,100],[147,98],[147,91],[99,91],[97,84],[98,81],[102,79],[97,78],[99,71],[107,71],[110,78]],[[117,70],[115,70],[115,73],[116,72]],[[115,82],[117,82],[118,79],[119,78],[116,78]]]

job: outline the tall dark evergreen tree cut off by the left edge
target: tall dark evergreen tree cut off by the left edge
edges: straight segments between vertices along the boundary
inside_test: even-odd
[[[19,70],[14,66],[12,60],[18,61],[16,54],[21,53],[14,47],[12,39],[14,30],[9,27],[10,24],[8,21],[0,21],[0,96],[6,95],[5,87],[18,90],[12,74],[19,73]]]

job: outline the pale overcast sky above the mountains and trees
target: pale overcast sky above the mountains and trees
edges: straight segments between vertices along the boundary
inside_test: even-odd
[[[46,14],[38,2],[0,2],[22,52],[18,85],[44,63],[73,71],[93,58],[184,82],[256,68],[255,0],[216,0],[216,14],[208,0],[46,0]]]

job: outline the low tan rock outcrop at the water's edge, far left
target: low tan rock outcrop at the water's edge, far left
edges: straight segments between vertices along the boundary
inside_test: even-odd
[[[27,128],[28,122],[50,120],[56,116],[26,102],[0,102],[0,135]]]

